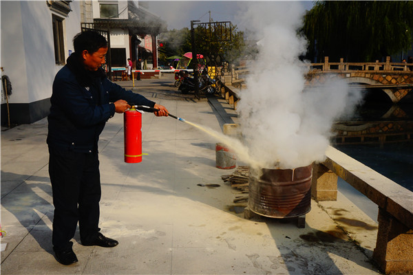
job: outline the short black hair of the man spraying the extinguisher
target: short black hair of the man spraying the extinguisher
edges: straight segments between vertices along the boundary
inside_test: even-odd
[[[97,52],[101,47],[107,47],[107,40],[105,36],[95,32],[94,30],[87,30],[79,32],[73,38],[74,52],[81,53],[87,50],[89,54]]]

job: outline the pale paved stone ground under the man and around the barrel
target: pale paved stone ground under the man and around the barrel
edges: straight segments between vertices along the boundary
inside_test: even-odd
[[[119,84],[133,88],[131,81]],[[216,131],[237,122],[222,99],[178,93],[173,75],[133,89]],[[233,212],[245,206],[233,203],[240,194],[221,179],[233,170],[215,168],[217,140],[151,113],[142,116],[148,155],[140,164],[123,162],[123,115],[109,120],[100,137],[100,228],[119,245],[84,247],[76,232],[79,262],[61,265],[52,252],[46,135],[45,119],[1,132],[1,274],[379,274],[370,261],[377,224],[346,197],[312,201],[306,228],[286,219],[244,219]]]

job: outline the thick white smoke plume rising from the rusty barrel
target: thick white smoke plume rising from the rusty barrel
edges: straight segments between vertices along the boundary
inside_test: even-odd
[[[299,2],[254,2],[245,8],[244,25],[260,39],[260,54],[237,107],[249,157],[266,168],[323,161],[332,122],[352,109],[360,94],[337,78],[305,89],[306,67],[299,56],[306,40],[297,36],[304,8]]]

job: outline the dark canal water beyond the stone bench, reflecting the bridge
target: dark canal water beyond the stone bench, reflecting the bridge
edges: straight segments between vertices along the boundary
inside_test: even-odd
[[[381,96],[372,98],[370,95]],[[413,91],[399,104],[370,91],[352,117],[333,126],[332,146],[413,192]],[[343,179],[339,190],[377,221],[375,203]]]

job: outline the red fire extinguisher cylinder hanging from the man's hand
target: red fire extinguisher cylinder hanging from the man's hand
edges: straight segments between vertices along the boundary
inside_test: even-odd
[[[142,162],[142,114],[131,107],[123,115],[125,126],[125,162]]]

